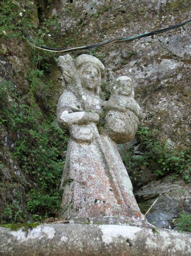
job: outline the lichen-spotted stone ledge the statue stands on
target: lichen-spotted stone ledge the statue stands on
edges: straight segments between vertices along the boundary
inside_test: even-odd
[[[191,234],[119,225],[44,224],[0,227],[3,256],[189,256]]]

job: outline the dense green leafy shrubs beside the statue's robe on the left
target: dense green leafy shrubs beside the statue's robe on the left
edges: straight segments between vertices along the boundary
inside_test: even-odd
[[[6,127],[13,134],[12,157],[37,187],[26,192],[26,210],[20,208],[19,201],[12,203],[3,197],[0,207],[2,223],[25,221],[29,213],[34,220],[55,216],[60,204],[58,187],[65,163],[61,155],[66,151],[67,134],[55,123],[54,105],[48,105],[51,82],[43,80],[43,70],[37,69],[36,65],[31,67],[27,71],[30,87],[25,102],[18,96],[14,84],[1,81],[0,131],[3,136]],[[43,101],[46,109],[49,108],[46,115],[37,104],[38,99]],[[0,164],[3,168],[3,163]],[[10,189],[6,185],[0,194],[6,194]]]

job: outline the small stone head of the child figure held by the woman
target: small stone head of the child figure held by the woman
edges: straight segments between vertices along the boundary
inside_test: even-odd
[[[114,82],[114,94],[134,97],[133,83],[128,76],[120,76]]]

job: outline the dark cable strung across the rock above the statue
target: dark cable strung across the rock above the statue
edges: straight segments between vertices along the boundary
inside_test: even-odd
[[[73,47],[73,48],[68,48],[68,49],[51,48],[51,47],[46,47],[46,46],[43,46],[43,45],[39,45],[34,40],[30,39],[25,33],[23,33],[23,35],[27,39],[29,44],[36,47],[37,49],[42,49],[42,50],[49,51],[49,52],[74,52],[74,51],[78,51],[78,50],[93,49],[93,48],[96,48],[96,47],[103,46],[105,44],[124,43],[124,42],[128,42],[128,41],[133,41],[135,39],[139,39],[139,38],[143,38],[143,37],[147,37],[147,36],[151,36],[151,35],[157,35],[157,34],[166,32],[168,30],[178,28],[180,26],[185,26],[187,24],[191,24],[191,20],[187,20],[187,21],[184,21],[184,22],[181,22],[181,23],[177,23],[177,24],[174,24],[173,26],[169,26],[169,27],[164,28],[164,29],[158,29],[158,30],[155,30],[155,31],[152,31],[152,32],[145,32],[143,34],[135,35],[135,36],[132,36],[132,37],[114,38],[114,39],[111,39],[109,41],[101,42],[101,43],[98,43],[98,44],[90,44],[90,45],[86,45],[86,46]]]

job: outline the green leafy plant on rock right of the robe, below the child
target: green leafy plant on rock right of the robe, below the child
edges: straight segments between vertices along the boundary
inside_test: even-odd
[[[141,154],[129,151],[123,156],[125,165],[129,169],[134,180],[145,169],[150,169],[157,175],[172,175],[172,179],[181,175],[190,181],[191,157],[190,152],[183,149],[171,149],[165,141],[157,141],[157,130],[149,130],[140,127],[137,132],[137,140],[140,143]]]

